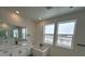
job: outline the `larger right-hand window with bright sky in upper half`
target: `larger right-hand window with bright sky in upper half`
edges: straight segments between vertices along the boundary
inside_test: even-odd
[[[57,46],[71,49],[75,22],[58,23]]]

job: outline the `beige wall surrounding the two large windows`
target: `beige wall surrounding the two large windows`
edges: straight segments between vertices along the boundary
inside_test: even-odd
[[[67,14],[53,20],[42,21],[38,25],[38,43],[42,42],[43,39],[43,26],[51,23],[57,23],[62,21],[76,20],[75,41],[74,49],[68,50],[56,46],[52,46],[51,55],[85,55],[85,47],[79,47],[77,43],[85,44],[85,12],[80,11],[72,14]]]

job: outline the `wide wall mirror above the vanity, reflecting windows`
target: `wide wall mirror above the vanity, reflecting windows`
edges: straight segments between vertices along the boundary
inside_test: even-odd
[[[11,24],[0,23],[0,39],[26,40],[28,34],[27,28]]]

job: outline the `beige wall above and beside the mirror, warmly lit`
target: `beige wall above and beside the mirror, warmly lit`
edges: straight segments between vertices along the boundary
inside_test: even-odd
[[[29,20],[29,17],[26,18],[26,16],[23,17],[20,13],[15,14],[13,11],[0,8],[0,22],[26,27],[28,29],[28,34],[30,35],[28,42],[34,42],[36,23]]]

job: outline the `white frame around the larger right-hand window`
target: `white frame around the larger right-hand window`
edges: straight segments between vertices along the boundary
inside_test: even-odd
[[[74,30],[73,30],[73,36],[72,36],[72,42],[71,42],[71,48],[63,48],[63,47],[60,47],[60,48],[63,48],[63,49],[69,49],[69,50],[73,50],[73,48],[74,48],[74,38],[75,38],[75,30],[76,30],[76,20],[70,20],[70,21],[62,21],[62,22],[57,22],[56,23],[56,27],[57,28],[55,28],[55,33],[56,33],[56,41],[55,41],[55,46],[57,46],[57,40],[58,40],[58,25],[59,24],[62,24],[62,23],[70,23],[70,22],[74,22],[75,23],[75,25],[74,25]],[[59,46],[57,46],[57,47],[59,47]]]

